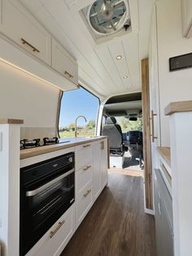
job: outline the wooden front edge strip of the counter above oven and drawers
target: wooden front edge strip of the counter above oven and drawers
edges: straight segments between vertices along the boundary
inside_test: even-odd
[[[94,141],[101,140],[101,139],[107,139],[107,136],[101,136],[96,139],[95,138],[94,139],[85,139],[83,141],[73,142],[73,143],[58,143],[58,144],[53,144],[53,145],[40,147],[40,148],[23,149],[20,151],[20,160],[28,158],[28,157],[39,156],[39,155],[46,154],[49,152],[55,152],[55,151],[62,150],[65,148],[72,148],[72,147],[75,147],[75,146],[78,146],[81,144],[92,143]]]

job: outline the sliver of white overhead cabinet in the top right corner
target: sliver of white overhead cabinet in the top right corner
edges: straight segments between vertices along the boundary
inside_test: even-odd
[[[181,0],[182,4],[182,25],[183,35],[186,38],[192,37],[192,1]]]

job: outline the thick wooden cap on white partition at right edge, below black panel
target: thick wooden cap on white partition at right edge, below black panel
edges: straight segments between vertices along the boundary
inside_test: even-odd
[[[164,114],[166,116],[172,115],[173,113],[190,111],[192,112],[192,100],[172,102],[164,108]]]

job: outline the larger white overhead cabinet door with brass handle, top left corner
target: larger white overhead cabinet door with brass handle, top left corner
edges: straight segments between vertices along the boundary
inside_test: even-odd
[[[0,0],[0,2],[1,32],[38,59],[51,64],[50,33],[17,1]]]

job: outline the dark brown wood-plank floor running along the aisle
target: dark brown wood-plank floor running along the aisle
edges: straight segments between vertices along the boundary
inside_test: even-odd
[[[143,213],[143,179],[109,174],[109,188],[76,230],[61,256],[155,256],[155,223]]]

